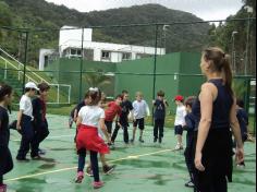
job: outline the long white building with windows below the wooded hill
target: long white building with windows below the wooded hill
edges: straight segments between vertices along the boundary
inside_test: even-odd
[[[84,28],[84,41],[82,52],[82,29],[72,29],[72,26],[63,26],[59,36],[59,55],[62,58],[83,57],[86,60],[103,62],[121,62],[135,60],[155,55],[155,47],[134,45],[108,44],[93,41],[93,29]],[[53,51],[41,49],[39,56],[39,70],[44,70],[48,56]],[[164,48],[157,48],[157,55],[166,55]]]

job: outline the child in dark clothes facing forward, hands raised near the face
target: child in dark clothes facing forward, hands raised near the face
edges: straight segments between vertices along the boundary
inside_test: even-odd
[[[156,110],[155,110],[155,128],[154,128],[154,143],[159,139],[159,143],[161,144],[163,137],[163,128],[166,120],[166,108],[168,107],[168,103],[164,99],[164,92],[159,91],[157,93],[157,99],[152,101]]]

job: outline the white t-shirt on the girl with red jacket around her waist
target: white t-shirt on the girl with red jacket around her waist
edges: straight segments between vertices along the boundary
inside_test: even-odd
[[[78,117],[82,118],[82,124],[98,128],[99,120],[105,119],[105,110],[98,106],[85,106],[81,108]]]

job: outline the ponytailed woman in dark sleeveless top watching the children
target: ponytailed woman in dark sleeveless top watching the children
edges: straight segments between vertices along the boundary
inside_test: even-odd
[[[227,192],[233,167],[231,128],[237,144],[236,160],[244,160],[230,58],[220,48],[208,48],[203,51],[200,68],[208,82],[201,85],[193,106],[198,120],[195,191]]]

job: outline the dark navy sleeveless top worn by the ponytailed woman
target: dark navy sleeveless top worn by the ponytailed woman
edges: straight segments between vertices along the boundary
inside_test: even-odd
[[[230,111],[233,105],[233,97],[223,84],[222,79],[209,80],[209,83],[212,83],[218,89],[217,98],[213,101],[210,129],[228,129],[230,127]],[[199,98],[193,104],[192,112],[196,119],[196,130],[198,130],[201,116]]]

